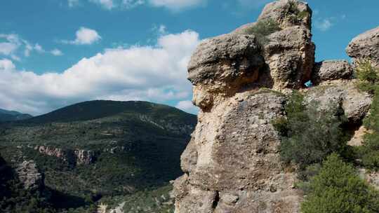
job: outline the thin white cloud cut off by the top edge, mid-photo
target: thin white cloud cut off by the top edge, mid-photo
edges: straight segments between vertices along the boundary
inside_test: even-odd
[[[180,11],[184,8],[192,8],[204,5],[207,0],[149,0],[149,4],[155,7],[164,7],[173,11]]]

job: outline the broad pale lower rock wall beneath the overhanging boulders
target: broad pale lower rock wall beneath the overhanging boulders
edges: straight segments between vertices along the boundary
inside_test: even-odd
[[[174,185],[177,213],[298,212],[295,175],[283,170],[270,122],[283,115],[285,97],[270,90],[237,96],[199,114],[182,159],[195,150],[198,157],[182,160],[187,174]]]

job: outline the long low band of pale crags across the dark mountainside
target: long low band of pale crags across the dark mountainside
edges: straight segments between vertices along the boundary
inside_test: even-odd
[[[35,146],[34,149],[47,156],[54,156],[73,165],[89,165],[95,162],[97,153],[91,150],[60,149],[53,146]]]

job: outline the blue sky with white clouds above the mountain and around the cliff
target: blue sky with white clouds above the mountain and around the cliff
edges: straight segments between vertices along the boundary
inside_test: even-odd
[[[141,99],[189,112],[201,39],[254,22],[267,0],[4,0],[0,108],[42,114],[88,99]],[[379,25],[379,1],[309,0],[317,60],[348,59]]]

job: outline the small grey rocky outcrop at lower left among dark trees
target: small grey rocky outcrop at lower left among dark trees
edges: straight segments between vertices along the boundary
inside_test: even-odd
[[[33,160],[24,161],[15,168],[15,174],[29,191],[37,191],[44,187],[44,175],[39,172]]]

